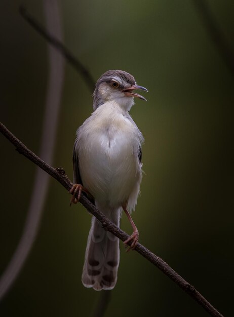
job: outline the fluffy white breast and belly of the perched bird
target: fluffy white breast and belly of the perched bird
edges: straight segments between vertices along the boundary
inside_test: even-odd
[[[116,207],[128,200],[136,204],[142,141],[128,112],[114,102],[101,105],[79,128],[76,150],[81,178],[95,200]]]

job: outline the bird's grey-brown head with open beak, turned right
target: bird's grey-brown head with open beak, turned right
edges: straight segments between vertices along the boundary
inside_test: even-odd
[[[96,110],[101,104],[114,101],[126,110],[134,104],[134,97],[146,99],[135,92],[136,89],[148,90],[138,86],[132,75],[123,70],[108,70],[97,81],[93,93],[93,108]]]

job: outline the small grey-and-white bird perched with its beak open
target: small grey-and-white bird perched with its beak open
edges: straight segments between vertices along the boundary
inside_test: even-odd
[[[93,93],[92,115],[76,132],[73,147],[74,185],[71,203],[77,203],[85,191],[116,226],[120,226],[122,209],[133,233],[124,242],[134,249],[139,233],[131,218],[137,203],[142,177],[141,145],[143,136],[129,114],[135,92],[148,90],[138,86],[132,75],[123,70],[109,70],[97,81]],[[76,198],[77,194],[77,198]],[[120,262],[119,239],[105,231],[92,218],[85,254],[82,282],[85,287],[111,290],[117,281]]]

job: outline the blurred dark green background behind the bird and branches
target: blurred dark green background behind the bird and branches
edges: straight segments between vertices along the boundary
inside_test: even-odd
[[[24,0],[45,25],[41,1]],[[2,0],[1,121],[38,153],[48,80],[48,47]],[[209,1],[233,47],[234,2]],[[95,80],[108,69],[133,74],[147,87],[131,115],[145,137],[141,185],[133,219],[140,242],[162,257],[225,316],[233,314],[233,77],[201,23],[193,1],[61,1],[64,43]],[[66,64],[54,166],[72,178],[74,135],[92,112],[92,96]],[[0,272],[24,226],[35,166],[3,136]],[[12,190],[14,193],[12,194]],[[89,316],[100,292],[81,274],[91,216],[69,208],[54,179],[40,233],[14,286],[0,305],[5,317]],[[124,216],[122,228],[132,229]],[[118,283],[105,316],[207,316],[160,270],[121,244]]]

